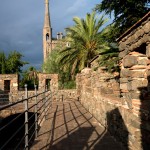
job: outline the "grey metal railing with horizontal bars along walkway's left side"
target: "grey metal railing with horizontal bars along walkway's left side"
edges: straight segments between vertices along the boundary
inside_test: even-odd
[[[49,108],[51,107],[52,102],[52,93],[51,91],[45,90],[42,93],[37,93],[37,87],[35,86],[35,95],[28,97],[27,85],[25,85],[25,99],[14,102],[12,104],[5,105],[0,108],[0,113],[7,109],[15,109],[15,107],[23,106],[23,111],[18,113],[12,120],[9,120],[7,124],[2,124],[3,119],[0,122],[0,137],[5,137],[5,133],[7,133],[8,127],[11,124],[15,124],[16,120],[23,117],[24,122],[19,126],[17,130],[8,138],[8,139],[0,139],[4,140],[4,142],[0,141],[0,150],[8,149],[10,143],[14,143],[13,149],[25,149],[28,150],[30,145],[33,143],[33,140],[38,136],[38,130],[42,124],[42,122],[46,119],[46,115],[48,113]],[[17,109],[16,109],[17,110]],[[31,114],[30,114],[31,113]],[[32,121],[31,121],[32,120]],[[34,120],[34,121],[33,121]],[[21,135],[19,140],[16,141],[17,135]],[[12,142],[13,141],[13,142]],[[11,147],[12,148],[12,147]]]

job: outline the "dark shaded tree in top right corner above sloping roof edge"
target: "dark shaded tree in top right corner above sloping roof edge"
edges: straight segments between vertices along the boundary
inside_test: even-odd
[[[150,10],[150,0],[102,0],[95,9],[114,15],[113,37],[119,37]]]

